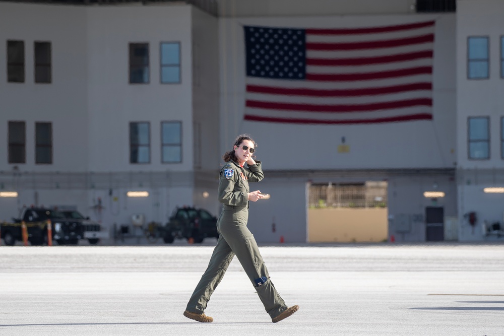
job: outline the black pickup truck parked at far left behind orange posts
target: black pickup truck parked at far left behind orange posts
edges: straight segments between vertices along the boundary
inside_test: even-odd
[[[76,220],[68,219],[56,210],[46,208],[24,208],[20,218],[12,222],[0,223],[0,236],[6,245],[14,245],[23,240],[22,225],[28,232],[31,245],[47,244],[48,225],[51,224],[52,240],[59,245],[77,244],[84,238],[84,226]]]

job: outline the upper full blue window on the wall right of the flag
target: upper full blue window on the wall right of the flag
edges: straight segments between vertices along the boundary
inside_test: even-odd
[[[469,36],[467,38],[467,78],[488,78],[487,36]]]

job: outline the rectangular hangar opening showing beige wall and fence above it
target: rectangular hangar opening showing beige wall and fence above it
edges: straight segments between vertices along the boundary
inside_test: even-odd
[[[309,242],[380,242],[388,237],[387,182],[312,184]]]

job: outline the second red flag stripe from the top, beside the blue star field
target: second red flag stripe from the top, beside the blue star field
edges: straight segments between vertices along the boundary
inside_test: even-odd
[[[434,34],[426,34],[414,37],[405,37],[394,40],[382,41],[361,41],[361,42],[342,42],[342,43],[323,43],[306,42],[306,50],[360,50],[360,49],[378,49],[394,48],[405,45],[421,44],[434,41]]]

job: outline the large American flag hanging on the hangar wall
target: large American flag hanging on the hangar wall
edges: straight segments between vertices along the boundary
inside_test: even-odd
[[[356,124],[432,119],[434,21],[244,27],[245,120]]]

